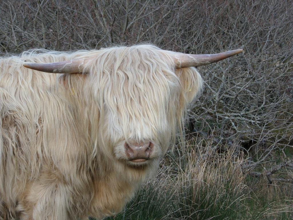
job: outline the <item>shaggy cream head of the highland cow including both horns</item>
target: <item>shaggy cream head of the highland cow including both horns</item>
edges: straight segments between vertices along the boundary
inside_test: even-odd
[[[89,107],[85,121],[91,124],[94,154],[135,167],[158,161],[182,130],[185,107],[202,87],[193,67],[242,51],[190,55],[139,45],[73,53],[72,60],[67,55],[63,62],[23,65],[44,72],[86,73],[86,80],[77,85]]]

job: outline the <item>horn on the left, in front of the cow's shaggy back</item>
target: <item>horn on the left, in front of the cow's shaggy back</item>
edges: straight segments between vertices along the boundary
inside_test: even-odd
[[[50,73],[81,73],[84,70],[84,60],[69,60],[55,63],[25,63],[24,67]]]

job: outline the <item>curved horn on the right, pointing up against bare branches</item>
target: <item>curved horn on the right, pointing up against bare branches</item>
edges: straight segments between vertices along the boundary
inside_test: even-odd
[[[202,65],[207,65],[210,63],[218,62],[224,60],[228,57],[241,53],[243,49],[230,50],[223,53],[217,54],[186,54],[186,53],[175,53],[174,61],[175,68],[183,67],[198,67]]]

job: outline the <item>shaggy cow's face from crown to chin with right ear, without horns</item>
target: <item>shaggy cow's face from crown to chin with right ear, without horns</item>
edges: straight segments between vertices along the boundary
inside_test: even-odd
[[[167,54],[144,48],[116,48],[93,60],[89,83],[105,154],[142,167],[158,161],[175,140],[201,78],[195,68],[175,70],[172,62]]]

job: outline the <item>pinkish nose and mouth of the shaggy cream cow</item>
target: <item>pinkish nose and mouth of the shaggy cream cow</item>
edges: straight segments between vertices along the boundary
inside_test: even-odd
[[[150,141],[125,143],[125,153],[132,162],[143,162],[149,159],[154,144]]]

